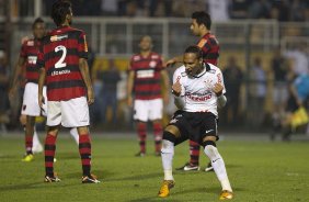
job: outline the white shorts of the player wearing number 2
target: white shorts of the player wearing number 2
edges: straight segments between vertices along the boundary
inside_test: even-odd
[[[48,126],[61,124],[65,127],[80,127],[90,124],[85,97],[67,101],[48,101],[47,110],[46,125]]]

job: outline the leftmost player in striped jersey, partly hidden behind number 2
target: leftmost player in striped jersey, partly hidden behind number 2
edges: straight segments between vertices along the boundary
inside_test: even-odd
[[[35,117],[39,115],[46,115],[47,108],[44,104],[43,112],[37,102],[38,92],[38,69],[37,56],[42,45],[42,40],[46,34],[45,23],[41,18],[37,18],[32,24],[32,31],[34,38],[27,38],[23,42],[20,57],[14,70],[12,87],[10,89],[10,97],[13,98],[19,88],[19,76],[23,67],[25,66],[25,90],[23,96],[23,105],[20,121],[25,128],[25,149],[26,154],[23,161],[32,161],[34,159],[33,153],[41,153],[43,150],[42,144],[37,137],[35,130]],[[46,97],[46,88],[44,87],[43,94]],[[72,137],[77,141],[77,130],[70,131]],[[78,143],[78,142],[77,142]]]

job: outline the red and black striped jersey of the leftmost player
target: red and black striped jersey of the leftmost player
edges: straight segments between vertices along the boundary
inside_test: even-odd
[[[27,40],[21,47],[20,57],[25,59],[25,79],[26,82],[38,81],[38,69],[37,57],[39,54],[39,46],[42,42],[39,40]]]

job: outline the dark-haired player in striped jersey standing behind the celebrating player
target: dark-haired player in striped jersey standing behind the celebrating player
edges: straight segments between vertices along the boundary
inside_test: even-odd
[[[219,58],[219,43],[214,34],[210,33],[211,19],[210,15],[204,11],[196,11],[192,14],[191,31],[194,35],[198,36],[197,46],[203,50],[204,63],[217,65]],[[174,57],[167,61],[165,66],[175,63],[182,63],[183,56]],[[199,145],[190,141],[190,161],[178,170],[199,170]],[[209,162],[205,171],[213,170]]]

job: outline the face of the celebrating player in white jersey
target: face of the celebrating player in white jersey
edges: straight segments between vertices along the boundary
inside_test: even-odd
[[[201,71],[202,63],[203,59],[198,59],[194,53],[186,53],[183,56],[183,64],[187,75],[197,75]]]

